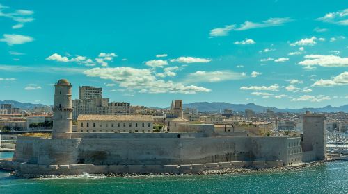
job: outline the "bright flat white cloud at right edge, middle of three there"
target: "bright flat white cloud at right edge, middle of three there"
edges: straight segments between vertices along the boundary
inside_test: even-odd
[[[336,55],[306,55],[305,60],[299,64],[313,68],[318,65],[322,67],[348,67],[348,58],[340,58]]]

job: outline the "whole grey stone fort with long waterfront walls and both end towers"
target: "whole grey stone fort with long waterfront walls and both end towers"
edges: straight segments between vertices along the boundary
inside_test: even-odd
[[[325,159],[322,114],[303,114],[300,137],[249,137],[215,132],[207,124],[182,127],[184,132],[72,132],[72,85],[62,79],[55,85],[52,138],[18,136],[12,161],[1,160],[0,168],[23,175],[190,173]]]

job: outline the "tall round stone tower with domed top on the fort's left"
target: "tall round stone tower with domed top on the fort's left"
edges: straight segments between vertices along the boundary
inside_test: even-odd
[[[72,101],[70,82],[59,80],[54,85],[54,114],[52,138],[71,138],[72,132]]]

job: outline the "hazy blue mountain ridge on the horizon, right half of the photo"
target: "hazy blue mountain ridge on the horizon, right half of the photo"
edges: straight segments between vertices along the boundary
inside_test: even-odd
[[[348,105],[343,105],[340,107],[331,107],[326,106],[322,108],[302,108],[302,109],[278,109],[276,107],[263,107],[260,105],[255,105],[255,103],[248,104],[230,104],[230,103],[208,103],[208,102],[200,102],[200,103],[189,103],[184,104],[184,108],[194,108],[198,109],[200,112],[219,112],[223,109],[232,109],[237,112],[244,112],[245,109],[252,109],[255,112],[264,112],[266,109],[271,109],[274,112],[306,112],[309,110],[311,112],[348,112]]]

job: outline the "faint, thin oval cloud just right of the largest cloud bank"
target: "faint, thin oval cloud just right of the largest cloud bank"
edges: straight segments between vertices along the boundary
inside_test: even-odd
[[[242,73],[233,71],[196,71],[195,73],[190,73],[184,82],[222,82],[226,80],[239,80],[244,77]]]

